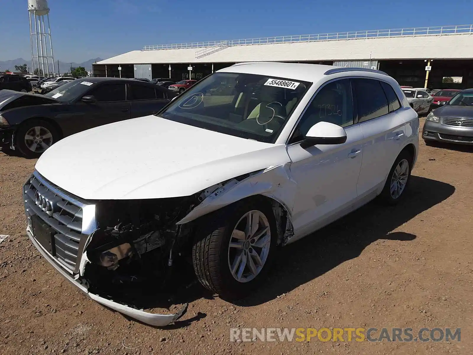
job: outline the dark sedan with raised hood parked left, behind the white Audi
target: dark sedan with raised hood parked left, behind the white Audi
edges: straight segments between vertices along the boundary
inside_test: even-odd
[[[37,158],[71,134],[156,114],[175,96],[155,84],[118,78],[77,79],[46,95],[0,90],[0,145]]]

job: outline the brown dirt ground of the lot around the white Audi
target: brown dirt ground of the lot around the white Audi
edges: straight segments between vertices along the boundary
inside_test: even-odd
[[[191,286],[187,313],[160,329],[88,299],[39,255],[20,194],[35,160],[0,151],[0,353],[471,354],[472,153],[420,140],[401,204],[370,203],[281,248],[269,281],[238,305]],[[240,344],[233,327],[449,327],[461,341]]]

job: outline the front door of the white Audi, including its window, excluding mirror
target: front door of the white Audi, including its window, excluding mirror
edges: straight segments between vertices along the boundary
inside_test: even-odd
[[[344,127],[347,141],[302,148],[300,141],[310,127],[322,121]],[[307,107],[289,140],[290,173],[297,184],[292,213],[296,239],[346,213],[356,200],[362,138],[359,125],[354,124],[350,80],[326,84]]]

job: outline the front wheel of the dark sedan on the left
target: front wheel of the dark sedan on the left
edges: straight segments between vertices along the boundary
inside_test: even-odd
[[[52,124],[43,120],[29,120],[15,134],[18,150],[26,158],[39,158],[57,141],[57,132]]]

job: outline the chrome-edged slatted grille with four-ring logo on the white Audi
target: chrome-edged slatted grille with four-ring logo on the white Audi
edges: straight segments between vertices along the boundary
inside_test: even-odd
[[[77,272],[84,239],[91,232],[91,224],[95,224],[94,215],[93,223],[88,221],[85,224],[86,231],[83,231],[83,211],[88,204],[64,193],[37,172],[26,182],[23,196],[29,226],[32,226],[33,215],[49,226],[54,237],[48,252],[61,266],[70,272]],[[34,228],[33,232],[36,234]],[[34,237],[46,247],[44,240],[38,240],[36,235]]]

